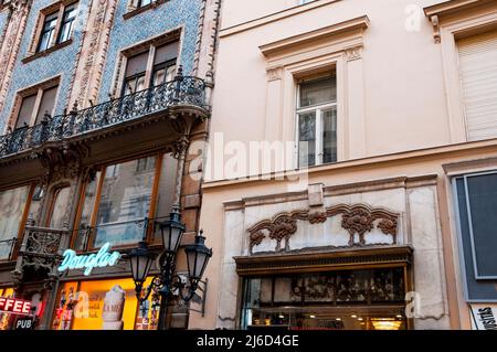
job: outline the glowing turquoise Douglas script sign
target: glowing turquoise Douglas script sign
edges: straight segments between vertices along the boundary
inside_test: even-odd
[[[110,244],[106,243],[98,253],[81,256],[76,255],[76,252],[73,249],[67,249],[64,252],[64,258],[59,266],[59,271],[85,269],[84,274],[88,276],[94,268],[114,266],[119,262],[120,253],[109,253],[109,248]]]

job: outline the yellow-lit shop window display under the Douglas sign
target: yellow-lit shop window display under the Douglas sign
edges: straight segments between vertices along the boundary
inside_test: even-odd
[[[133,279],[64,282],[52,329],[157,330],[159,303],[158,295],[150,295],[139,305]]]

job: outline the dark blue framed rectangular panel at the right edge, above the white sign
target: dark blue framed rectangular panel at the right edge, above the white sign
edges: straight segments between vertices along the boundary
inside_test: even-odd
[[[496,301],[497,171],[458,177],[454,182],[467,299]]]

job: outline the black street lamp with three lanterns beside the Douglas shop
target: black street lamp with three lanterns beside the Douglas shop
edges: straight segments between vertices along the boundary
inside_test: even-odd
[[[181,299],[186,302],[193,298],[195,290],[199,287],[199,281],[212,256],[212,249],[205,247],[205,237],[203,237],[202,231],[197,234],[194,244],[184,246],[188,263],[188,282],[183,284],[181,278],[176,274],[177,254],[186,230],[184,224],[181,223],[179,211],[175,209],[168,221],[155,223],[155,225],[160,230],[163,252],[160,260],[160,273],[152,278],[145,296],[141,294],[144,284],[147,280],[155,257],[149,252],[147,244],[141,242],[138,248],[135,248],[129,253],[129,259],[133,279],[135,281],[135,291],[140,305],[148,299],[152,290],[159,292],[159,330],[165,330],[167,307],[171,294],[175,290],[178,290]],[[187,295],[184,295],[186,288],[188,289]]]

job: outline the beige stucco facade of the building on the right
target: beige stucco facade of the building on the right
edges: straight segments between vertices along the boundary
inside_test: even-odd
[[[393,238],[372,223],[362,247],[413,248],[412,288],[421,297],[413,328],[470,329],[452,178],[497,169],[497,139],[468,140],[456,41],[493,28],[497,3],[225,0],[221,19],[200,218],[214,256],[205,316],[190,328],[239,327],[234,257],[281,255],[273,239],[251,243],[252,226],[296,211],[327,213],[297,221],[287,249],[355,249],[361,246],[349,242],[343,215],[329,210],[362,205],[398,215]],[[299,173],[290,150],[273,173],[226,173],[236,152],[250,157],[251,141],[295,143],[297,82],[325,71],[337,76],[338,162]],[[262,175],[244,179],[251,174]],[[305,182],[293,182],[295,174]]]

